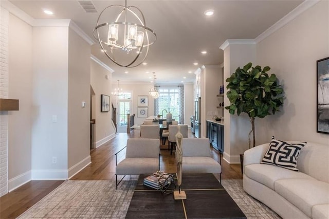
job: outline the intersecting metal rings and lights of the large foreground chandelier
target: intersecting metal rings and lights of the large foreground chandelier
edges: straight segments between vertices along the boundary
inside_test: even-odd
[[[102,14],[107,9],[115,8],[115,7],[118,7],[121,9],[121,11],[119,12],[119,14],[116,17],[116,20],[114,22],[105,22],[105,23],[99,24]],[[139,15],[141,17],[139,17],[134,10],[137,10],[137,12],[139,13]],[[130,12],[133,15],[133,17],[135,17],[140,22],[140,24],[133,23],[133,22],[127,22],[126,20],[127,20],[128,12]],[[119,21],[121,16],[124,16],[124,21]],[[106,41],[104,41],[100,37],[99,30],[100,30],[100,28],[104,28],[106,26],[108,26],[108,33],[107,33],[107,39],[106,39]],[[124,28],[124,31],[123,31],[124,39],[123,39],[122,45],[117,42],[118,40],[122,41],[122,36],[120,39],[118,36],[119,27],[121,27],[120,29]],[[134,31],[136,32],[136,33],[135,32],[133,33],[134,34],[133,36],[131,34],[130,28],[135,28],[135,29],[132,29],[133,32]],[[142,31],[140,31],[141,29],[142,29]],[[138,36],[137,36],[137,32],[139,32]],[[149,38],[150,33],[152,33],[154,35],[154,41],[150,41],[150,38]],[[141,12],[141,10],[135,6],[127,6],[126,0],[125,0],[125,6],[110,5],[101,11],[101,13],[99,14],[98,19],[97,19],[96,27],[93,30],[93,35],[94,35],[94,38],[99,42],[99,45],[103,49],[103,52],[106,54],[107,58],[109,58],[112,62],[114,62],[115,64],[117,64],[121,67],[131,67],[131,68],[136,67],[145,61],[145,59],[147,58],[148,53],[149,53],[149,46],[152,45],[157,39],[156,33],[151,28],[145,26],[145,18],[144,18],[143,13]],[[113,35],[115,35],[116,38],[115,37],[113,38],[112,37]],[[132,36],[132,38],[128,39],[129,36]],[[109,47],[109,52],[107,51],[106,46]],[[143,48],[146,49],[146,52],[142,52]],[[129,64],[119,63],[116,60],[116,57],[114,54],[115,50],[117,50],[117,49],[121,49],[127,53],[131,52],[132,50],[135,50],[136,57]],[[139,62],[136,64],[135,62],[137,61],[137,59],[140,56],[144,56],[144,57],[141,58],[139,60]],[[135,63],[135,65],[133,65],[134,63]]]

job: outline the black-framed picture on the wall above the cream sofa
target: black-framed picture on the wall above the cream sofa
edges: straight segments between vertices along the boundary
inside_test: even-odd
[[[317,132],[329,134],[329,57],[317,61]]]

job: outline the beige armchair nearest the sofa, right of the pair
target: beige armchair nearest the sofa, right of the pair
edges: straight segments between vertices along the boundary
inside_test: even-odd
[[[181,148],[183,173],[219,173],[221,179],[221,164],[210,156],[208,138],[183,138]]]

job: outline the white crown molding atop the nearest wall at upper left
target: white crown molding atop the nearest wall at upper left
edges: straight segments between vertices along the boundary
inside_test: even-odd
[[[33,19],[20,8],[10,3],[8,0],[1,0],[1,7],[7,9],[10,13],[31,25],[32,27],[69,27],[74,30],[89,45],[95,42],[72,20],[70,19]]]

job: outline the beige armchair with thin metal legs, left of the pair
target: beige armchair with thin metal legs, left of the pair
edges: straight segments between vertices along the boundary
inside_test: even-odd
[[[117,163],[115,154],[115,178],[116,188],[125,175],[139,175],[143,173],[154,173],[160,169],[159,140],[147,138],[130,138],[127,140],[125,158]],[[118,175],[124,175],[118,182]]]

